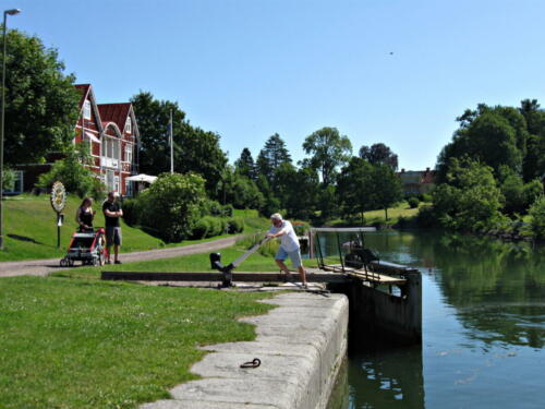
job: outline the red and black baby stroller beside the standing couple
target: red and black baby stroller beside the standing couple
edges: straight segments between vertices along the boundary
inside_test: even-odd
[[[104,265],[106,261],[106,238],[102,227],[72,234],[68,254],[61,258],[61,267],[72,267],[75,261],[82,265]]]

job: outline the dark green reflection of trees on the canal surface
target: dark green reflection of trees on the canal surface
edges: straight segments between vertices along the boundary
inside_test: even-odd
[[[470,338],[543,348],[543,249],[438,232],[374,234],[367,242],[388,260],[432,274]]]

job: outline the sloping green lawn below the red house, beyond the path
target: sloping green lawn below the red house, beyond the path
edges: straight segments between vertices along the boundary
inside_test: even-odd
[[[4,201],[4,251],[0,252],[0,262],[36,258],[62,257],[77,225],[75,210],[81,200],[70,196],[64,208],[64,226],[61,227],[61,248],[57,248],[57,214],[51,208],[48,195],[28,195],[8,197]],[[104,226],[100,203],[95,203],[95,226]],[[268,220],[259,217],[256,210],[235,210],[234,216],[245,219],[245,231],[267,228]],[[215,240],[220,236],[205,240],[185,240],[181,243],[165,244],[161,240],[146,232],[126,226],[123,229],[122,252],[153,250],[177,245],[187,245],[201,241]]]

